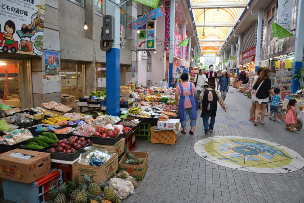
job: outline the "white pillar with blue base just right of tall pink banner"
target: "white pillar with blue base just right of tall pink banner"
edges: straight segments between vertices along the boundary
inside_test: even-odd
[[[174,21],[175,21],[175,0],[170,1],[170,52],[169,52],[169,82],[168,86],[172,85],[172,71],[173,71],[173,55],[174,55]]]

